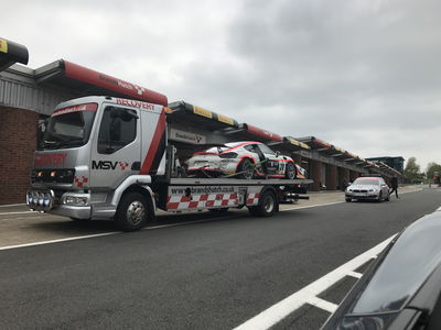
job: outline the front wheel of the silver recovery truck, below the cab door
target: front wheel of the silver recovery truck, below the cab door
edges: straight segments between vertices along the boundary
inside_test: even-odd
[[[115,218],[119,229],[123,231],[139,230],[146,226],[147,218],[146,196],[139,193],[129,193],[122,196]]]

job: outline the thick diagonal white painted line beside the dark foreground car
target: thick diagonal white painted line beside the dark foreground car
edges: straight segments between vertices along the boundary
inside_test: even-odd
[[[288,315],[293,312],[295,309],[300,308],[302,305],[306,304],[310,299],[323,293],[325,289],[337,283],[340,279],[346,276],[348,272],[352,272],[366,262],[368,262],[374,255],[380,253],[387,244],[395,238],[395,234],[387,240],[383,241],[378,245],[372,248],[370,250],[362,253],[361,255],[348,261],[338,268],[327,273],[323,277],[316,279],[299,292],[292,294],[291,296],[284,298],[283,300],[277,302],[276,305],[263,310],[259,315],[249,319],[245,323],[235,328],[236,330],[258,330],[258,329],[269,329],[275,326]],[[316,300],[315,300],[316,301]],[[327,306],[329,307],[329,306]]]

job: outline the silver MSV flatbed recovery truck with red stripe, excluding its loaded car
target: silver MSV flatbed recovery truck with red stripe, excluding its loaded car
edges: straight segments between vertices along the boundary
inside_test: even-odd
[[[312,183],[179,177],[176,148],[168,140],[171,112],[117,97],[58,105],[34,155],[28,206],[74,220],[115,219],[120,229],[135,231],[153,221],[158,209],[247,207],[251,215],[269,217]]]

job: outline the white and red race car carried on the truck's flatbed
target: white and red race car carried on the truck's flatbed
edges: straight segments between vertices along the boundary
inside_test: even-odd
[[[232,142],[196,152],[186,161],[189,177],[306,178],[291,157],[260,142]]]

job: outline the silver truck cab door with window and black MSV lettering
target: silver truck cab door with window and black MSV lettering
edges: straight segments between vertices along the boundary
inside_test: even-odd
[[[115,189],[141,162],[140,111],[105,106],[92,147],[90,187]]]

